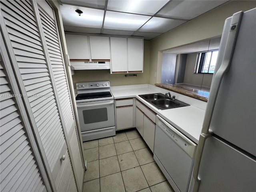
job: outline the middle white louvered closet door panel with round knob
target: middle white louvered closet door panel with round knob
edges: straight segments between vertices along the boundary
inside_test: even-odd
[[[46,156],[57,191],[77,191],[51,69],[46,63],[33,8],[30,1],[1,1],[1,13],[16,60],[12,62],[18,65],[16,73],[22,78],[20,86],[24,85],[22,94],[27,95],[24,99],[29,103],[28,113],[32,114],[30,119],[40,136],[42,153]],[[60,160],[63,155],[66,155],[65,160]]]

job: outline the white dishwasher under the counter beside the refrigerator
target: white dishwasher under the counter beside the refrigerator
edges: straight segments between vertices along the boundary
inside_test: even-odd
[[[197,145],[156,116],[154,160],[175,192],[187,192]]]

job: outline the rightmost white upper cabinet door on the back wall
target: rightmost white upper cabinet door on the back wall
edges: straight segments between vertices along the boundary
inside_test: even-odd
[[[143,72],[143,39],[128,40],[128,72]]]

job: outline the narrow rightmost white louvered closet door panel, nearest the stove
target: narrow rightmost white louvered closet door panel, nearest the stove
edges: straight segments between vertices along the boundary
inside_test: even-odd
[[[45,1],[39,1],[38,4],[40,20],[42,23],[50,64],[53,70],[63,121],[66,128],[68,141],[70,143],[72,157],[74,158],[74,169],[78,176],[77,178],[80,189],[82,189],[84,168],[78,144],[78,136],[76,133],[76,125],[71,106],[66,71],[64,68],[64,62],[62,60],[62,52],[58,38],[59,35],[56,27],[56,21],[54,19],[55,16],[52,8]],[[45,10],[47,10],[47,12]]]

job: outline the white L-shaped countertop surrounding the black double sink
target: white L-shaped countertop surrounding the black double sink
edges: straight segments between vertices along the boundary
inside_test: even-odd
[[[140,86],[136,88],[133,88],[132,86],[117,87],[118,88],[113,87],[111,89],[111,93],[113,94],[115,99],[136,97],[151,110],[156,112],[156,114],[164,118],[167,122],[172,124],[172,126],[174,126],[176,129],[178,129],[180,132],[182,132],[184,135],[186,135],[188,138],[198,144],[199,136],[202,130],[205,110],[196,106],[192,106],[190,102],[184,100],[182,101],[190,104],[190,106],[158,110],[157,108],[146,102],[146,100],[138,96],[141,94],[158,93],[158,90],[146,88],[146,86]]]

